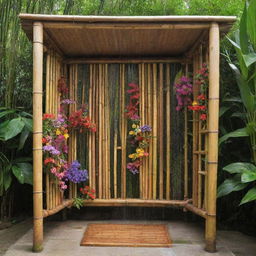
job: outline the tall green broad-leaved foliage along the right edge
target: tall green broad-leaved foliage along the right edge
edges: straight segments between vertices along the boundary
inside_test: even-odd
[[[244,128],[226,133],[220,138],[220,144],[231,137],[249,137],[248,147],[252,154],[252,163],[232,163],[223,168],[233,177],[226,179],[218,188],[218,196],[225,196],[233,191],[246,187],[250,190],[242,198],[240,205],[256,200],[256,1],[245,4],[239,29],[234,33],[233,45],[238,63],[232,63],[228,57],[229,66],[233,70],[239,87],[243,108],[240,116]],[[227,106],[226,106],[227,107]]]

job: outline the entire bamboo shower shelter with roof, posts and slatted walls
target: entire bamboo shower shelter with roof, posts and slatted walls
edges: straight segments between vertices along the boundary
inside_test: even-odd
[[[63,193],[42,170],[43,106],[45,112],[57,114],[57,83],[64,76],[70,98],[77,105],[87,104],[97,124],[96,133],[73,132],[69,139],[68,160],[78,159],[88,168],[89,185],[97,193],[85,205],[183,208],[205,219],[206,250],[216,251],[219,36],[235,17],[20,18],[33,40],[33,250],[43,248],[43,218],[70,207],[77,196],[76,185]],[[173,91],[180,69],[195,78],[203,63],[209,65],[207,123],[198,113],[177,113]],[[125,106],[131,82],[140,88],[141,123],[151,125],[153,135],[149,157],[136,176],[126,169],[132,123],[125,117]],[[194,85],[193,97],[198,94]]]

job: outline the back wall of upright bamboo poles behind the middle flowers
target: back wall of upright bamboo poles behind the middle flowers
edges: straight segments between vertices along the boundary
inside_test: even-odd
[[[88,105],[97,132],[77,135],[77,158],[89,170],[97,198],[183,199],[184,116],[175,110],[173,93],[180,68],[166,63],[78,66],[76,97]],[[141,124],[151,125],[154,136],[137,175],[126,170],[133,152],[132,122],[125,117],[131,82],[140,87]]]

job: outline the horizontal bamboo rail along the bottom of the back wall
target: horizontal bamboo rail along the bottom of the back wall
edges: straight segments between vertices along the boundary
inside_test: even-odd
[[[190,200],[149,200],[149,199],[95,199],[85,200],[85,206],[140,206],[140,207],[185,207]]]

